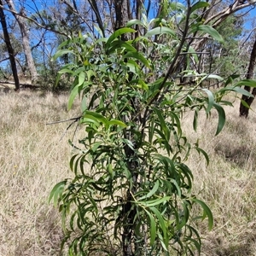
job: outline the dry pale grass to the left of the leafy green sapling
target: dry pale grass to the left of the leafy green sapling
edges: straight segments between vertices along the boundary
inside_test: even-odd
[[[67,96],[29,92],[0,95],[0,255],[58,255],[60,216],[48,204],[54,184],[68,171],[71,147],[61,139]],[[61,141],[60,141],[61,139]]]

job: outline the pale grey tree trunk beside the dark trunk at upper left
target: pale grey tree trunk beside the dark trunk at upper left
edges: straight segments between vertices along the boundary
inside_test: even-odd
[[[22,16],[26,16],[25,9],[21,9],[20,15],[16,15],[17,12],[15,11],[15,4],[13,0],[6,0],[6,3],[8,4],[9,9],[12,11],[12,14],[15,16],[15,20],[17,20],[20,26],[22,45],[23,45],[25,56],[26,56],[26,64],[29,69],[32,82],[34,82],[38,79],[38,72],[32,58],[32,51],[29,44],[30,42],[29,42],[28,29],[26,27],[26,20],[25,18],[22,17]]]

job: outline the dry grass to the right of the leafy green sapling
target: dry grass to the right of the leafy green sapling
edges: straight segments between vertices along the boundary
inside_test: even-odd
[[[255,103],[255,102],[254,102]],[[239,102],[225,108],[226,125],[217,137],[217,113],[201,115],[198,131],[192,131],[192,116],[183,119],[186,135],[210,156],[210,165],[196,152],[188,165],[195,175],[195,194],[211,207],[215,225],[209,233],[200,225],[204,237],[204,256],[256,255],[256,113],[249,119],[238,115]],[[255,109],[255,105],[254,109]]]

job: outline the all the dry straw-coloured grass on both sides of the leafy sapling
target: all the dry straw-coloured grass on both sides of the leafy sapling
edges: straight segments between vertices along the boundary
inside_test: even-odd
[[[0,256],[59,255],[61,222],[48,203],[55,183],[70,177],[72,148],[69,123],[46,125],[79,114],[66,111],[67,96],[29,92],[0,94]],[[238,105],[227,109],[222,134],[213,137],[217,114],[201,116],[197,133],[185,115],[186,135],[211,158],[210,166],[192,152],[188,165],[195,174],[195,193],[207,201],[214,229],[198,224],[204,237],[202,255],[256,255],[256,114],[238,118]],[[80,131],[79,131],[80,132]],[[63,136],[64,135],[64,136]],[[79,133],[76,135],[79,137]]]

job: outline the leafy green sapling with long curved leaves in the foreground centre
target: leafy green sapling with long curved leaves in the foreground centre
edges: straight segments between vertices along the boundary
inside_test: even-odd
[[[194,111],[196,129],[199,112],[209,116],[214,108],[218,134],[225,122],[221,105],[229,103],[223,96],[244,91],[236,84],[215,93],[202,89],[202,81],[211,77],[189,66],[184,73],[195,75],[195,84],[176,83],[180,64],[196,55],[185,38],[200,31],[222,40],[212,27],[189,23],[191,13],[205,6],[196,4],[183,12],[182,36],[172,22],[151,26],[152,20],[131,20],[129,26],[146,29],[134,40],[121,39],[136,32],[124,27],[108,38],[71,38],[56,53],[55,58],[73,55],[59,79],[63,73],[73,79],[68,108],[76,96],[82,98],[79,124],[84,125],[79,153],[70,160],[74,178],[56,184],[49,198],[62,212],[70,255],[201,252],[193,218],[207,218],[211,230],[212,212],[191,195],[193,173],[185,162],[193,149],[209,158],[183,135],[181,119],[184,111]],[[200,216],[191,213],[195,205]]]

